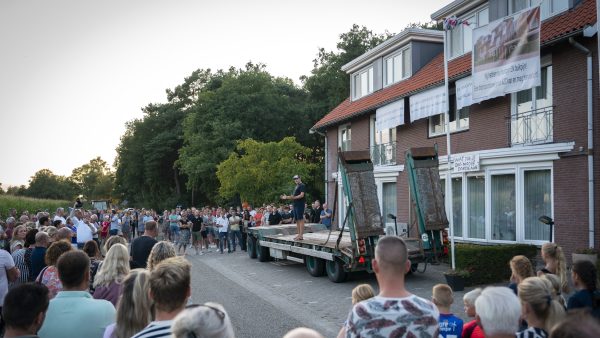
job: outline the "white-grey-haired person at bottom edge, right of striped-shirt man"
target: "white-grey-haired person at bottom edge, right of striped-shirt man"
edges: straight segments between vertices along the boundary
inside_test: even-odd
[[[231,319],[221,304],[188,305],[171,328],[174,338],[234,338]]]

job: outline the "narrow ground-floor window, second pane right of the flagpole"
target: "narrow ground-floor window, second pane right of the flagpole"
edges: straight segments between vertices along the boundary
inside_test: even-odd
[[[485,239],[485,176],[467,178],[467,237]]]

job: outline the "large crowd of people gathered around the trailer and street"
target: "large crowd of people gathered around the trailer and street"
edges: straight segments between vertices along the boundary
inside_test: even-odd
[[[306,210],[307,222],[331,226],[326,204],[315,201]],[[68,215],[11,211],[0,238],[0,330],[5,337],[233,337],[222,305],[189,304],[191,265],[184,256],[189,248],[197,255],[245,250],[248,228],[291,223],[288,213],[289,205],[177,207],[161,214],[77,205]],[[555,243],[544,244],[541,257],[537,273],[527,257],[513,257],[508,287],[466,293],[472,320],[464,323],[450,311],[448,285],[435,285],[431,300],[405,287],[406,244],[381,237],[372,261],[379,292],[369,285],[353,290],[339,337],[600,336],[595,265],[577,261],[569,274]],[[299,328],[286,337],[322,336]]]

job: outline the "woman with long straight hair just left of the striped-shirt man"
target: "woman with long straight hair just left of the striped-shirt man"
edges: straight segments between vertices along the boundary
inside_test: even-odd
[[[149,290],[150,273],[145,269],[131,270],[123,281],[117,304],[117,320],[106,328],[104,338],[130,338],[152,321],[152,301],[148,298]]]

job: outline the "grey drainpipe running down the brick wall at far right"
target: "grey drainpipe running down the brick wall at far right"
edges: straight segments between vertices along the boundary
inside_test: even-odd
[[[587,115],[588,115],[588,231],[589,247],[594,247],[594,137],[593,137],[593,105],[592,105],[592,52],[569,38],[569,43],[587,56]]]

